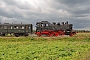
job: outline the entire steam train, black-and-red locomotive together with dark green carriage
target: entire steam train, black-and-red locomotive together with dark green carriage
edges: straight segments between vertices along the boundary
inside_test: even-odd
[[[73,24],[68,24],[68,22],[60,24],[59,22],[53,22],[52,24],[48,21],[41,21],[36,23],[36,32],[38,36],[59,36],[59,35],[70,35],[73,36],[76,34],[73,31]],[[9,23],[0,23],[0,36],[6,36],[7,34],[19,36],[28,36],[33,33],[32,24],[9,24]]]

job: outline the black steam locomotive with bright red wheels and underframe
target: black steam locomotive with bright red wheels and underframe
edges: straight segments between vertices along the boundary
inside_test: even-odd
[[[38,36],[59,36],[59,35],[70,35],[73,36],[76,32],[72,29],[73,24],[60,22],[53,22],[52,24],[48,21],[41,21],[36,23],[36,33]]]

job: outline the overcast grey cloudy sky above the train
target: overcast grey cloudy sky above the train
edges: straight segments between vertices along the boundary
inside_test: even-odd
[[[90,30],[90,0],[0,0],[0,22],[66,22]]]

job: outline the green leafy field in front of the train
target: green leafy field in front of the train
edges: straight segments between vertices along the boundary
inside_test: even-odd
[[[73,37],[0,37],[0,60],[90,60],[90,33]]]

